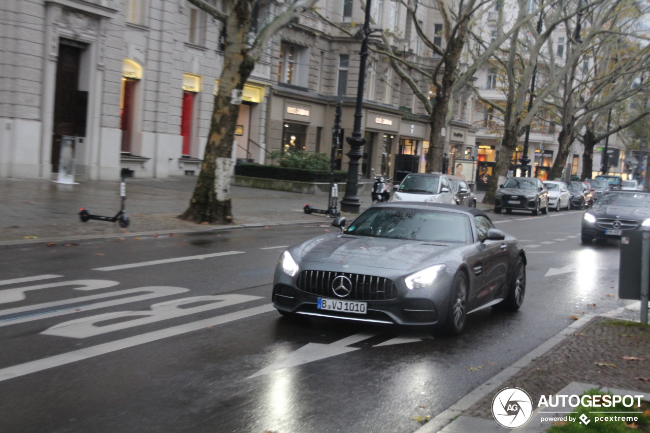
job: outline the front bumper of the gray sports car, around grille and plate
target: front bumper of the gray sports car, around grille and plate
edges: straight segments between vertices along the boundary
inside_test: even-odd
[[[323,263],[322,265],[326,265]],[[309,268],[310,270],[313,267]],[[314,269],[315,270],[315,269]],[[328,270],[328,269],[322,269]],[[384,270],[374,269],[376,276],[391,278],[382,272]],[[363,270],[369,273],[369,269]],[[437,282],[431,287],[409,290],[401,278],[392,276],[391,280],[397,287],[397,296],[389,300],[356,300],[337,298],[335,300],[352,300],[354,302],[366,302],[367,313],[344,313],[343,311],[330,311],[318,309],[318,298],[332,299],[330,296],[319,296],[307,293],[296,287],[296,277],[276,269],[274,278],[272,304],[275,308],[305,315],[305,317],[326,317],[331,319],[344,319],[349,321],[374,322],[385,324],[401,325],[432,325],[444,322],[447,317],[450,288],[454,276],[443,272]],[[402,281],[400,281],[402,280]]]

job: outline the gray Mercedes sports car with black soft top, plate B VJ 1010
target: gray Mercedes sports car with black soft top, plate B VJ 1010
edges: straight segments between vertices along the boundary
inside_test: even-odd
[[[460,334],[467,314],[519,309],[526,256],[478,209],[421,202],[379,203],[341,233],[283,252],[272,302],[288,317],[445,326]]]

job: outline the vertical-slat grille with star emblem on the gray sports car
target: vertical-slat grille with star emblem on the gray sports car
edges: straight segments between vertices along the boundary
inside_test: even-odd
[[[337,296],[333,289],[333,280],[337,276],[345,276],[352,282],[352,290],[347,296]],[[388,278],[349,274],[347,272],[331,272],[328,270],[303,270],[296,282],[298,289],[313,295],[326,296],[333,299],[349,300],[389,300],[397,297],[397,287]]]

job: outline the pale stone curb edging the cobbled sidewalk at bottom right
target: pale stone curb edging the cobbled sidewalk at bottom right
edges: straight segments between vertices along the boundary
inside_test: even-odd
[[[562,331],[558,332],[558,334],[552,336],[550,339],[544,343],[541,343],[541,345],[528,352],[528,354],[524,355],[518,361],[510,365],[510,367],[506,367],[500,373],[492,376],[489,380],[487,380],[487,382],[484,382],[484,384],[478,386],[469,394],[465,395],[465,397],[452,404],[452,406],[443,410],[443,412],[432,418],[431,421],[428,421],[428,423],[423,425],[421,428],[415,430],[415,433],[439,433],[442,428],[462,415],[465,410],[473,406],[473,404],[478,400],[494,391],[494,389],[496,389],[499,385],[503,384],[506,382],[506,380],[510,379],[512,376],[518,373],[521,369],[528,366],[528,364],[534,361],[535,358],[539,358],[551,350],[553,347],[558,345],[558,343],[562,342],[569,334],[572,334],[577,329],[582,328],[588,324],[594,317],[597,316],[584,315],[583,317],[580,317],[580,319],[573,322]]]

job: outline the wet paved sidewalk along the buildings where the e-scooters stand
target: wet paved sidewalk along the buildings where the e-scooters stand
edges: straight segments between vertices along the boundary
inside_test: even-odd
[[[126,211],[131,225],[79,220],[79,209],[112,217],[120,209],[119,183],[82,181],[62,185],[44,180],[0,179],[0,242],[29,239],[61,239],[90,235],[119,235],[160,231],[209,230],[211,225],[179,220],[187,209],[196,177],[127,179]],[[329,222],[324,215],[305,215],[309,203],[326,209],[327,196],[305,195],[266,189],[231,187],[233,224],[270,222]],[[343,192],[341,192],[341,196]],[[370,197],[361,197],[362,209]]]

